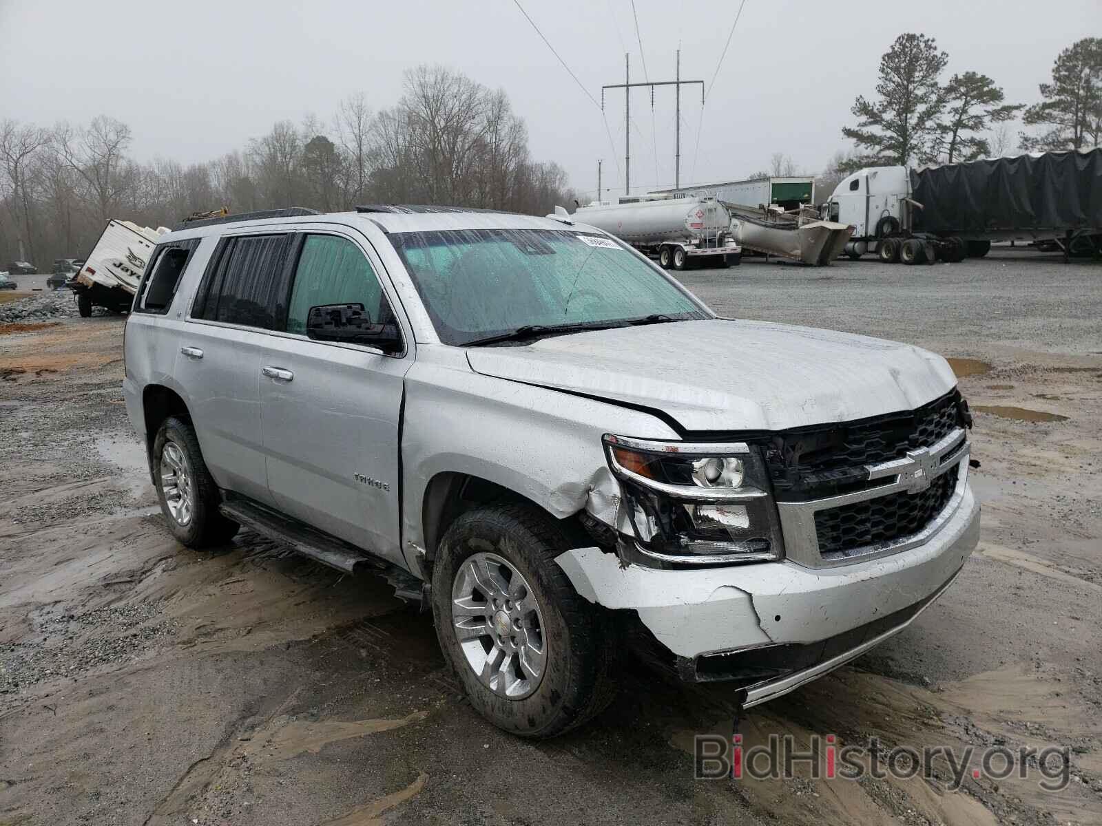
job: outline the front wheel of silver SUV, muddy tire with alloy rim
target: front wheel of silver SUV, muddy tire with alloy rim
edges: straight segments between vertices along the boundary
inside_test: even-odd
[[[452,523],[433,563],[432,612],[444,657],[475,710],[520,737],[561,735],[615,697],[619,645],[611,620],[574,591],[555,564],[569,547],[554,520],[534,507],[488,506]],[[493,588],[479,586],[472,569]],[[496,611],[495,595],[503,600]],[[503,628],[516,635],[499,635]],[[457,629],[469,629],[462,643]],[[542,649],[528,657],[540,667],[538,678],[519,653],[537,651],[530,641]],[[476,669],[486,669],[485,682]]]

